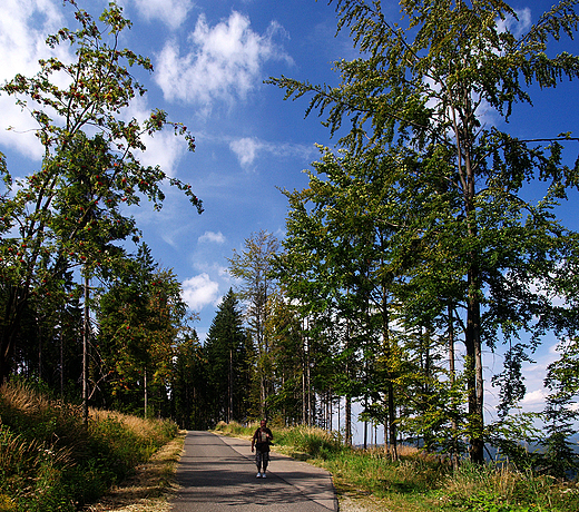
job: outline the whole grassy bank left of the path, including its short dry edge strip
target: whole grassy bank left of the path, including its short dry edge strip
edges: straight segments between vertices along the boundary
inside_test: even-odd
[[[168,510],[164,496],[184,437],[169,442],[177,433],[171,422],[91,410],[87,429],[80,407],[9,383],[0,388],[0,474],[7,475],[0,511],[31,508],[39,495],[42,510],[87,503],[127,474],[133,476],[87,510]]]

